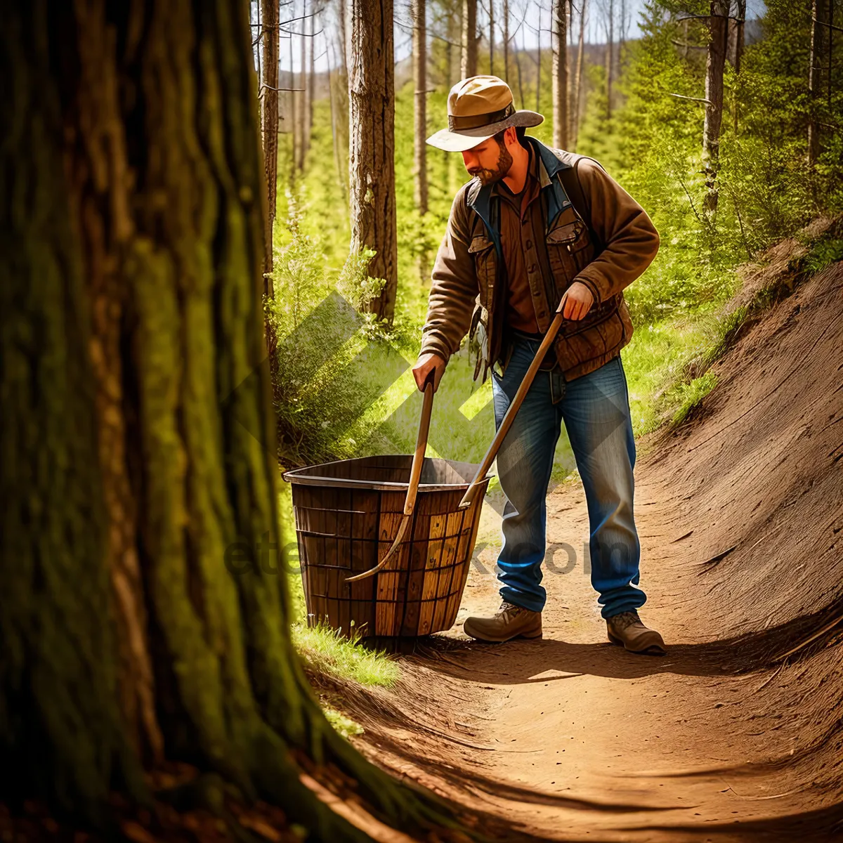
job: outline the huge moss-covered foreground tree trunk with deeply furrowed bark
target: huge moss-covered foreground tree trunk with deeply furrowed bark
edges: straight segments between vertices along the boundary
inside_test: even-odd
[[[314,840],[370,840],[319,796],[331,764],[432,827],[438,800],[325,721],[268,567],[247,4],[10,4],[0,56],[0,792],[113,834],[112,789],[151,801],[142,764],[189,761],[207,807],[231,782]]]

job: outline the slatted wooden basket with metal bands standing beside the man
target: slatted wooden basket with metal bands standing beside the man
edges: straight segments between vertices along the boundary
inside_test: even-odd
[[[468,577],[487,477],[459,509],[477,466],[424,460],[416,507],[395,556],[356,583],[346,577],[384,558],[398,534],[411,456],[343,459],[287,471],[308,622],[346,635],[422,636],[454,626]]]

